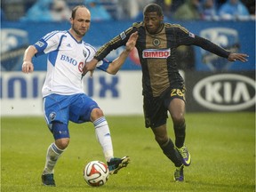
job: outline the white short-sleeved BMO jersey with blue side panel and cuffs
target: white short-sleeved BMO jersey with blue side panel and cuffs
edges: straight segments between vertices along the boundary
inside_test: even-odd
[[[82,69],[96,52],[91,44],[77,42],[68,31],[52,31],[34,45],[36,56],[48,53],[43,97],[52,93],[71,95],[84,92]]]

